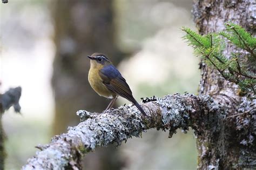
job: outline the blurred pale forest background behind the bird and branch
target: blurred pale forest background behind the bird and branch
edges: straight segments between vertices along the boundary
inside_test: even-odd
[[[3,115],[6,169],[20,169],[38,144],[79,123],[76,111],[100,112],[109,100],[88,81],[93,52],[118,67],[134,98],[197,93],[199,60],[181,39],[194,27],[191,0],[41,1],[0,4],[0,92],[22,86],[22,115]],[[96,102],[97,101],[97,102]],[[130,104],[118,99],[116,106]],[[116,149],[87,154],[84,169],[196,169],[193,132],[150,130]]]

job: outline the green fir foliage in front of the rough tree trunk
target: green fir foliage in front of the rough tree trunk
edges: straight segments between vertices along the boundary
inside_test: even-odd
[[[186,32],[183,37],[194,49],[196,56],[200,57],[208,66],[216,69],[220,75],[240,86],[241,92],[253,92],[256,94],[256,75],[247,69],[244,62],[239,60],[242,53],[232,53],[226,57],[223,54],[228,43],[247,51],[248,59],[256,63],[256,38],[248,33],[241,26],[227,23],[226,30],[218,33],[209,33],[208,35],[199,35],[199,33],[190,28],[183,27],[181,30]]]

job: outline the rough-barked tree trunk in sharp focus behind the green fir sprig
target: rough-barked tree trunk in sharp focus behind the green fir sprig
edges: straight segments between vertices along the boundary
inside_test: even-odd
[[[194,21],[202,35],[224,30],[226,22],[239,24],[255,35],[255,5],[255,0],[196,1],[193,6]],[[229,58],[231,52],[242,53],[228,45],[224,51],[226,57]],[[239,60],[246,62],[245,52],[239,56]],[[247,65],[255,73],[255,65]],[[255,107],[255,99],[239,96],[237,85],[224,80],[205,64],[201,64],[201,72],[199,93],[212,96],[229,109],[226,113],[209,114],[205,119],[208,123],[200,127],[197,139],[198,168],[256,168],[255,112],[252,111],[252,117],[243,114],[241,117],[225,118],[227,115],[250,111]]]

